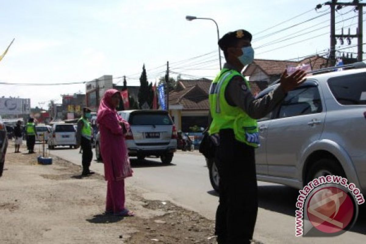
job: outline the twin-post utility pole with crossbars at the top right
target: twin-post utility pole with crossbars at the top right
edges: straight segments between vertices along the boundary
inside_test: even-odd
[[[326,2],[324,5],[330,6],[330,53],[329,53],[329,61],[330,65],[334,66],[336,63],[336,38],[357,38],[357,61],[362,61],[362,7],[366,5],[366,3],[360,3],[359,0],[353,0],[352,2],[348,3],[339,3],[337,0],[332,0]],[[336,35],[336,24],[335,24],[335,11],[340,10],[342,7],[345,6],[355,6],[355,10],[358,10],[358,28],[355,35],[351,35],[350,32],[347,34]],[[318,8],[318,7],[317,7]]]

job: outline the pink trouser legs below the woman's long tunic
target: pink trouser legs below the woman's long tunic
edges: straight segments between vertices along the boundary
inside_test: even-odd
[[[124,180],[107,181],[107,201],[105,211],[119,213],[124,210]]]

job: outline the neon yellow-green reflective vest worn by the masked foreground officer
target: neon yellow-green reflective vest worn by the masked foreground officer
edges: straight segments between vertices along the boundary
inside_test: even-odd
[[[250,89],[249,83],[238,71],[228,69],[220,71],[210,87],[210,112],[213,119],[209,130],[210,135],[219,133],[221,129],[233,129],[236,140],[258,147],[257,120],[249,117],[241,108],[229,105],[225,99],[225,89],[234,76],[241,76]]]

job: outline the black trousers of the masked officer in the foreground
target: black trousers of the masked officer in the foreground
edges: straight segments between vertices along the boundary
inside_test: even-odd
[[[215,162],[219,170],[219,206],[215,234],[219,244],[247,244],[258,212],[254,147],[235,139],[232,129],[219,132]]]

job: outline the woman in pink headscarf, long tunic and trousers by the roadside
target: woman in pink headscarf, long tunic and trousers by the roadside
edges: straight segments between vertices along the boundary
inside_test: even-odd
[[[125,208],[124,179],[132,176],[130,159],[124,136],[130,130],[126,120],[117,115],[116,108],[121,99],[120,92],[109,89],[100,102],[97,123],[100,131],[100,153],[104,162],[107,180],[106,214],[134,216]]]

